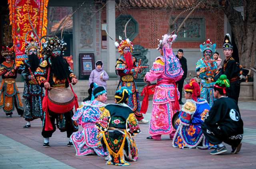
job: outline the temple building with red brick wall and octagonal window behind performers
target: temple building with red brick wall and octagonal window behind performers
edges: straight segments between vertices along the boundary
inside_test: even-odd
[[[58,35],[62,31],[65,19],[74,12],[83,0],[49,0],[47,34]],[[94,61],[102,60],[104,70],[111,78],[116,78],[115,64],[119,57],[118,49],[107,35],[112,38],[124,36],[124,26],[130,20],[126,34],[136,46],[135,55],[144,57],[145,64],[152,66],[153,61],[160,54],[156,50],[157,39],[168,32],[170,22],[180,12],[195,4],[193,0],[86,0],[84,5],[68,20],[64,31],[64,41],[68,44],[65,57],[73,64],[74,73],[79,79],[88,79],[88,72],[94,68]],[[178,29],[190,10],[174,22],[170,30]],[[1,1],[1,44],[10,39],[8,29],[7,0]],[[10,28],[10,26],[9,26]],[[195,74],[195,64],[202,57],[199,45],[210,39],[216,43],[217,51],[222,55],[224,34],[231,29],[226,16],[214,11],[210,6],[200,4],[188,17],[178,32],[172,49],[177,54],[183,49],[188,63],[188,73]]]

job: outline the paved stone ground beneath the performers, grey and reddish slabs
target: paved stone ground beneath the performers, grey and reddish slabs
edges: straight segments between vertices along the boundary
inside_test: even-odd
[[[112,101],[108,101],[110,103]],[[183,100],[185,102],[185,100]],[[152,101],[144,115],[150,120]],[[6,118],[0,109],[0,169],[36,168],[36,169],[108,169],[108,168],[145,168],[145,169],[254,169],[256,165],[256,102],[239,101],[239,108],[244,121],[242,149],[238,154],[228,152],[222,155],[210,155],[212,150],[173,148],[168,136],[161,141],[146,140],[148,124],[141,124],[142,133],[135,140],[139,150],[137,162],[130,166],[118,167],[106,165],[104,157],[97,155],[76,156],[74,147],[67,147],[66,133],[59,130],[50,138],[50,147],[43,147],[40,119],[31,122],[31,128],[24,118],[15,111],[12,118]],[[80,128],[81,130],[81,128]]]

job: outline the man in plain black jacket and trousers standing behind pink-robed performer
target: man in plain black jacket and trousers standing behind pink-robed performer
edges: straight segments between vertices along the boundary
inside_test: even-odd
[[[179,49],[178,50],[178,55],[176,55],[176,57],[179,59],[180,61],[180,65],[184,71],[184,74],[182,76],[182,78],[176,82],[176,85],[178,86],[178,90],[180,92],[180,99],[179,99],[179,103],[180,104],[184,104],[181,99],[182,99],[182,88],[183,88],[183,83],[184,83],[184,80],[186,79],[187,77],[187,73],[188,73],[188,67],[187,67],[187,59],[185,57],[183,57],[183,50],[182,49]]]

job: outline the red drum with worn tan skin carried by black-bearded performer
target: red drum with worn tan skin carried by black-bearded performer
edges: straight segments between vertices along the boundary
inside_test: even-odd
[[[59,90],[48,91],[48,108],[52,112],[65,113],[73,109],[75,104],[74,93],[65,87],[56,87]]]

